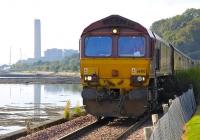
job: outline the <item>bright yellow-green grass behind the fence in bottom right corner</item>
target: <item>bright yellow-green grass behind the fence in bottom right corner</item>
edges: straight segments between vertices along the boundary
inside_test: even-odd
[[[200,140],[200,106],[192,119],[187,122],[183,140]]]

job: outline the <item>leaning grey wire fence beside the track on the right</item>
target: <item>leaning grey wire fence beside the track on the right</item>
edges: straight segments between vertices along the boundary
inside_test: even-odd
[[[172,101],[168,112],[158,120],[150,140],[180,140],[185,123],[196,110],[193,89]]]

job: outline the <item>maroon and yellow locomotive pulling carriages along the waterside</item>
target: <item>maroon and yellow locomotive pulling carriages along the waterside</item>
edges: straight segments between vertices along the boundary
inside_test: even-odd
[[[119,15],[87,26],[79,45],[83,104],[98,118],[152,112],[173,98],[174,73],[195,65],[156,33]]]

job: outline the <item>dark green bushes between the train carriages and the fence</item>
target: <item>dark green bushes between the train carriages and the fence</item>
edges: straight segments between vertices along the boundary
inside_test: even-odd
[[[182,90],[187,90],[189,84],[193,85],[195,99],[199,102],[199,95],[200,95],[200,66],[176,72],[175,75],[178,85]]]

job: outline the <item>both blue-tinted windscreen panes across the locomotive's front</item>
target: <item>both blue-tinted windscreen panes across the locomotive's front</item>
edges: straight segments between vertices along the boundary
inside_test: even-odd
[[[110,57],[112,48],[120,57],[144,57],[145,38],[143,36],[119,36],[117,46],[113,46],[111,36],[88,36],[84,41],[84,55],[87,57]]]

